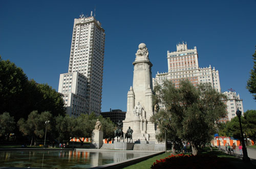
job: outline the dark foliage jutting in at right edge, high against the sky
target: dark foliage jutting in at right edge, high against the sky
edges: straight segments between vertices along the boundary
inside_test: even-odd
[[[253,59],[253,69],[251,69],[250,72],[250,78],[247,81],[247,86],[246,89],[248,89],[248,91],[253,94],[253,99],[256,100],[256,50],[254,52],[254,54],[252,55],[252,59]]]

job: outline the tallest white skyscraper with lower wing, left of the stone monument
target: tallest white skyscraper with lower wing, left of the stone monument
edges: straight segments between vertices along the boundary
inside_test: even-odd
[[[59,93],[65,95],[63,99],[70,101],[65,103],[70,116],[91,112],[99,115],[101,111],[104,46],[104,29],[92,13],[90,17],[80,15],[75,19],[69,70],[60,74],[58,89]],[[70,75],[74,81],[70,81]],[[66,99],[66,96],[70,99]]]

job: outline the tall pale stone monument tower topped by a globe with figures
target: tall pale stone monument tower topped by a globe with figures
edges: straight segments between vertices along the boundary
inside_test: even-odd
[[[154,114],[151,72],[153,65],[148,59],[148,50],[144,43],[139,44],[133,65],[133,86],[127,93],[127,112],[123,121],[123,131],[131,126],[135,143],[156,143],[155,124],[150,122]]]

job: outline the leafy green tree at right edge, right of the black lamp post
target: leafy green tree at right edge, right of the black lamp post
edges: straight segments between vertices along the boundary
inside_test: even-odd
[[[244,113],[244,119],[246,120],[247,134],[252,138],[255,143],[256,137],[256,110],[247,110]]]

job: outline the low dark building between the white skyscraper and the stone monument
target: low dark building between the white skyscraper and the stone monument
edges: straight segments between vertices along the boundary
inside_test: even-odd
[[[115,110],[111,110],[107,111],[107,112],[101,112],[100,115],[103,118],[110,118],[110,120],[112,122],[114,122],[115,124],[117,124],[117,122],[120,120],[120,122],[122,122],[125,119],[125,115],[126,112],[122,111],[120,109],[115,109]]]

